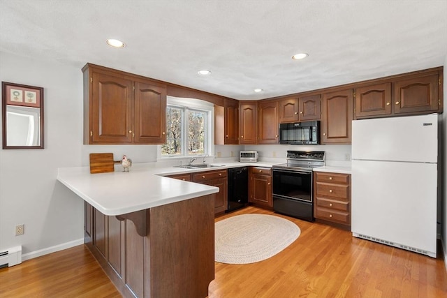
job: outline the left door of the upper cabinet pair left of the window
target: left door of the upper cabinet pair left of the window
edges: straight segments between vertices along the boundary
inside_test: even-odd
[[[133,82],[92,73],[90,87],[90,144],[131,143]]]

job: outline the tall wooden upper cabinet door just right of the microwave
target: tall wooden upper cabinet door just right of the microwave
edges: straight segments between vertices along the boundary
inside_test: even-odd
[[[321,117],[323,144],[351,143],[352,118],[352,89],[323,94],[323,117]]]

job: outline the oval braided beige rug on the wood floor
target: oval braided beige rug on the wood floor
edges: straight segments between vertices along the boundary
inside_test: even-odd
[[[215,260],[249,264],[276,255],[300,236],[298,225],[266,214],[242,214],[215,223]]]

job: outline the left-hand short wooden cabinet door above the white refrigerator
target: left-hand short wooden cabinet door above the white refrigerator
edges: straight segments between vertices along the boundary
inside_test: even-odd
[[[356,117],[391,114],[391,83],[356,89]]]

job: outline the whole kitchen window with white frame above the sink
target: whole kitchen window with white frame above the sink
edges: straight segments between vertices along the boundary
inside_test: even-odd
[[[212,155],[213,114],[212,103],[168,96],[166,144],[161,145],[161,157]]]

